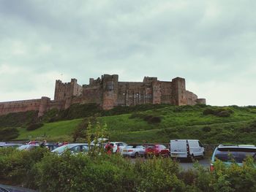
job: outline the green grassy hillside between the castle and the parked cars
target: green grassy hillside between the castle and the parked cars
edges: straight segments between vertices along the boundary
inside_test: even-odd
[[[111,140],[168,142],[170,139],[189,138],[211,144],[230,142],[256,145],[256,107],[151,105],[132,110],[125,108],[125,111],[119,109],[119,113],[124,114],[113,115],[116,113],[113,110],[98,114],[97,118],[101,124],[107,124]],[[82,122],[83,118],[60,120],[45,123],[34,131],[19,127],[17,139],[46,137],[53,141],[72,141],[72,133]]]

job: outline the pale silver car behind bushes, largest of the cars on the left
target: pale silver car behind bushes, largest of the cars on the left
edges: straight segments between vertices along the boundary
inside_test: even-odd
[[[55,150],[52,150],[51,152],[58,153],[59,155],[61,155],[66,150],[69,150],[70,153],[88,153],[89,145],[87,143],[71,143],[58,147]]]

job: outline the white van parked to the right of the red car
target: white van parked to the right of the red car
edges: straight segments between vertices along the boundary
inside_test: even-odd
[[[195,158],[203,158],[205,150],[202,143],[195,139],[176,139],[170,140],[171,158],[189,158],[194,161]]]

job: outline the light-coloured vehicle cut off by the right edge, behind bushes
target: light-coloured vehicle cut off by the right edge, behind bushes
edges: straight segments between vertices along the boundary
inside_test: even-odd
[[[214,162],[219,159],[227,166],[232,163],[242,165],[247,156],[251,156],[256,161],[255,145],[219,145],[215,148],[211,157],[211,171],[214,170]]]

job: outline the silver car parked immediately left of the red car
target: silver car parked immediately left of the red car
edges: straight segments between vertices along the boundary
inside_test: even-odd
[[[146,147],[143,147],[142,145],[127,145],[121,151],[121,155],[123,155],[124,157],[128,156],[137,158],[139,156],[145,155],[145,149]]]

